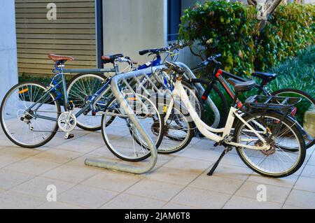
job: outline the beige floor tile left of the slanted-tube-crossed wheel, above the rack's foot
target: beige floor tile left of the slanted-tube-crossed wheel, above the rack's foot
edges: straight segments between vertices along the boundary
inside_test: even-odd
[[[57,149],[64,149],[64,150],[80,152],[80,153],[88,153],[93,150],[96,150],[97,148],[101,148],[103,145],[104,143],[102,141],[92,143],[92,142],[81,141],[80,139],[76,139],[75,141],[58,145]]]

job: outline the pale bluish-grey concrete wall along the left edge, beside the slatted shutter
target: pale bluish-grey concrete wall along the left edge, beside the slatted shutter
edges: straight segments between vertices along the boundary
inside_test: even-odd
[[[14,0],[0,1],[0,102],[18,83]]]

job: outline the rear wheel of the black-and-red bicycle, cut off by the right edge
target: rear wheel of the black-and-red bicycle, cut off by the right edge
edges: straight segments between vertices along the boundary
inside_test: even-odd
[[[302,101],[297,104],[296,109],[291,114],[291,117],[293,117],[297,122],[299,122],[301,127],[304,127],[303,129],[303,136],[304,141],[307,148],[311,148],[315,144],[315,133],[314,130],[311,131],[311,129],[307,128],[307,123],[304,122],[304,116],[307,110],[309,108],[315,108],[315,99],[307,94],[306,92],[302,92],[298,89],[280,89],[276,92],[273,92],[272,95],[274,96],[290,96],[290,97],[300,97]]]

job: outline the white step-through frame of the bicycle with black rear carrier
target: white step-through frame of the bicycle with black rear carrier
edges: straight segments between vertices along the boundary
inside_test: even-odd
[[[186,106],[186,109],[190,113],[190,117],[192,117],[193,122],[195,122],[197,129],[207,138],[211,139],[212,141],[215,141],[216,143],[219,143],[221,141],[224,141],[228,145],[232,145],[235,147],[241,147],[241,148],[248,148],[251,150],[268,150],[270,148],[269,145],[266,145],[265,139],[260,136],[260,134],[265,134],[266,132],[262,131],[256,131],[251,127],[250,124],[248,124],[242,117],[241,114],[239,114],[239,109],[235,107],[230,108],[230,113],[228,116],[228,121],[225,125],[225,128],[223,129],[214,129],[212,127],[209,127],[206,123],[204,123],[200,117],[197,115],[197,112],[193,108],[193,105],[190,103],[188,94],[186,93],[186,90],[183,88],[183,85],[181,84],[181,78],[177,78],[176,83],[175,83],[175,88],[174,91],[172,92],[173,96],[179,96],[181,101],[183,101],[184,106]],[[166,115],[166,120],[169,118],[169,115],[172,113],[172,107],[174,106],[174,99],[172,99],[171,102],[172,106],[169,106],[169,109],[167,110],[167,115]],[[239,144],[239,143],[234,143],[228,140],[228,137],[230,136],[232,132],[232,126],[235,122],[235,117],[237,117],[241,122],[246,124],[246,127],[251,130],[255,136],[259,138],[260,141],[264,145],[258,147],[258,146],[251,146],[251,145],[244,145],[244,144]],[[265,129],[262,127],[262,129]],[[223,136],[218,136],[216,134],[218,133],[223,133]],[[255,141],[255,140],[253,140]]]

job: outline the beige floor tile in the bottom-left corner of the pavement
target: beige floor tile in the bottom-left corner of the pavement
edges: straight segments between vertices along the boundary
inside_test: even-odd
[[[43,202],[43,199],[16,192],[0,193],[0,208],[3,209],[33,209]]]

